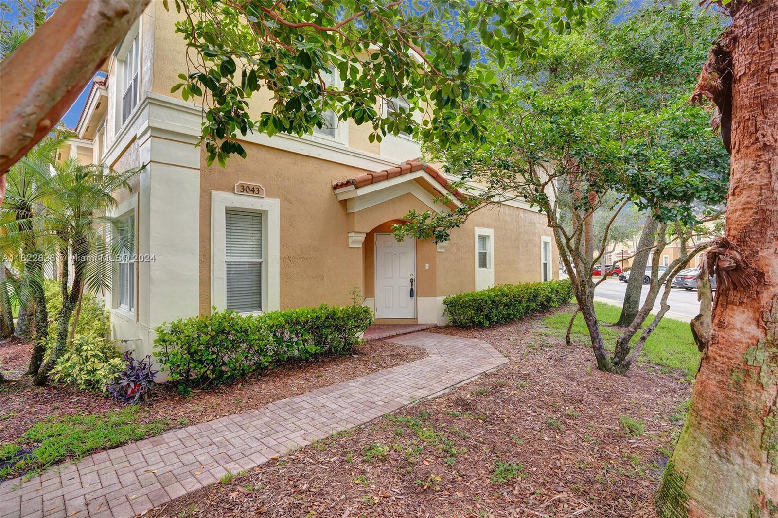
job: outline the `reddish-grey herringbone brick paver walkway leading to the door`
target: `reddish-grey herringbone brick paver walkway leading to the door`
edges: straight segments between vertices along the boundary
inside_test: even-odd
[[[507,362],[485,341],[446,334],[392,338],[429,356],[0,485],[0,516],[135,516],[250,470],[315,439],[433,397]],[[18,487],[17,487],[18,486]]]

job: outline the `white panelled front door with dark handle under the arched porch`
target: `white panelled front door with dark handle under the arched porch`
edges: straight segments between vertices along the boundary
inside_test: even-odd
[[[416,240],[376,234],[376,318],[415,318],[416,292]]]

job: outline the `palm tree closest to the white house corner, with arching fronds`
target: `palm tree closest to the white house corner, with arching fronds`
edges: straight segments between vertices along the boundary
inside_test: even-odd
[[[117,205],[114,193],[131,191],[129,181],[141,169],[120,173],[107,166],[82,166],[76,159],[67,159],[54,165],[50,176],[42,178],[41,186],[47,194],[40,228],[60,264],[62,308],[57,317],[54,350],[35,376],[37,385],[46,383],[49,371],[65,352],[70,318],[83,290],[110,289],[117,264],[114,257],[132,249],[134,236],[126,232],[131,230],[125,228],[126,222],[106,213]]]

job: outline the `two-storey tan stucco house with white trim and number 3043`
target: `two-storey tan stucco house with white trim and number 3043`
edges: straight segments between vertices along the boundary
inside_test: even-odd
[[[346,304],[355,286],[380,322],[443,324],[447,295],[558,276],[545,217],[520,201],[477,212],[448,243],[395,241],[391,226],[410,209],[459,202],[436,202],[447,179],[402,135],[370,143],[353,122],[303,138],[253,134],[246,159],[207,166],[201,107],[170,93],[186,71],[176,16],[151,2],[77,128],[95,163],[148,164],[114,214],[135,226],[136,261],[120,264],[106,295],[128,347],[151,352],[155,327],[212,308]]]

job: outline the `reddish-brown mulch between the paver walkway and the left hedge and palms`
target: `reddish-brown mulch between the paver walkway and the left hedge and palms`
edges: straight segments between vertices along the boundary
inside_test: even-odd
[[[35,387],[24,376],[32,345],[13,339],[0,344],[0,360],[10,385],[0,386],[0,443],[22,436],[30,425],[51,415],[101,413],[124,408],[103,397],[64,386]],[[144,405],[142,422],[159,418],[170,420],[172,428],[210,421],[224,415],[262,408],[272,401],[296,396],[319,387],[352,380],[359,376],[412,362],[426,356],[419,348],[370,341],[359,345],[353,355],[272,369],[264,376],[197,390],[189,396],[177,394],[175,387],[159,387],[152,404]]]

